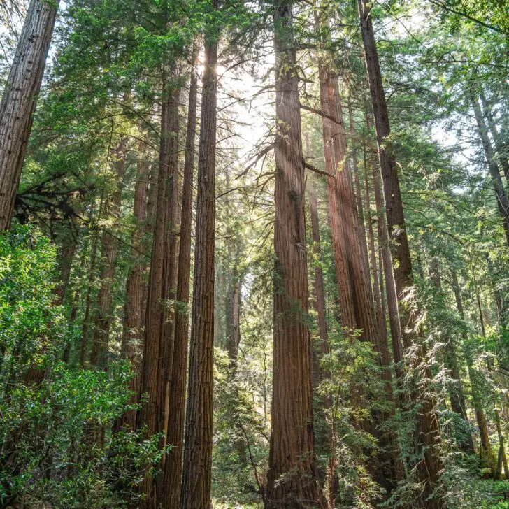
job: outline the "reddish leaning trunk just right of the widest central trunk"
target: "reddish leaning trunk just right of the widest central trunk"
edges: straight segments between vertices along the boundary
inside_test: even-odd
[[[326,37],[328,36],[327,34]],[[325,169],[329,175],[334,175],[327,177],[327,189],[341,324],[349,331],[360,329],[359,339],[371,342],[375,351],[378,352],[380,364],[388,367],[387,344],[384,353],[384,345],[380,341],[380,331],[375,316],[364,225],[361,224],[357,214],[354,183],[350,164],[347,161],[347,138],[338,79],[331,68],[330,55],[324,52],[320,53],[318,57],[318,73],[320,77],[320,106],[325,113],[322,117]],[[392,398],[392,394],[390,394],[392,392],[391,373],[387,368],[384,370],[383,376],[388,396]],[[363,392],[361,385],[352,388],[352,406],[360,406]],[[380,422],[380,420],[385,420],[385,417],[378,415],[377,420]],[[382,444],[384,437],[371,422],[366,420],[357,424],[377,436]],[[379,460],[381,459],[380,457]],[[385,461],[371,461],[368,468],[380,485],[386,489],[392,488],[391,467]]]

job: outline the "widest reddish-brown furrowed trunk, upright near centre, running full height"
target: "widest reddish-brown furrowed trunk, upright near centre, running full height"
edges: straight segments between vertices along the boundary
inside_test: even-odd
[[[313,433],[304,160],[292,3],[274,6],[275,274],[266,509],[322,506]]]

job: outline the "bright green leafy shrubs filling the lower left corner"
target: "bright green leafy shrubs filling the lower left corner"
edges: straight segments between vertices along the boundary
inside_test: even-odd
[[[159,437],[101,431],[133,408],[129,366],[110,374],[58,360],[69,331],[53,305],[55,264],[35,229],[0,235],[0,504],[124,507],[161,457]]]

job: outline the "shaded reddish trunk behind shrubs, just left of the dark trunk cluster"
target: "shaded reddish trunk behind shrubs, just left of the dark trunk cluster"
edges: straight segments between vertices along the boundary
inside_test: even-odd
[[[143,273],[147,264],[143,253],[143,238],[147,220],[148,198],[148,144],[141,141],[138,144],[138,166],[136,171],[136,185],[134,187],[134,219],[136,224],[131,235],[131,268],[127,275],[126,296],[124,305],[124,331],[122,334],[122,357],[132,366],[132,378],[129,389],[134,393],[131,403],[138,400],[140,384],[140,364],[143,352],[143,301],[146,294],[146,283]],[[117,422],[117,429],[136,429],[136,410],[128,410]]]

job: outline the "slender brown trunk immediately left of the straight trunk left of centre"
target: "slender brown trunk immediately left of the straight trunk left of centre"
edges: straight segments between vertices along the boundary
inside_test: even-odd
[[[196,103],[198,92],[199,44],[194,43],[189,106],[185,138],[184,182],[182,184],[182,214],[178,254],[177,294],[175,308],[175,344],[171,370],[170,405],[167,442],[173,445],[164,462],[163,509],[180,508],[180,485],[182,482],[182,457],[184,455],[185,382],[187,374],[187,340],[189,334],[189,278],[191,273],[191,227],[194,172],[194,144],[196,138]]]

